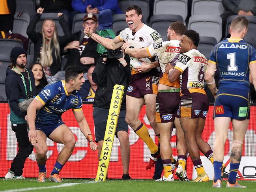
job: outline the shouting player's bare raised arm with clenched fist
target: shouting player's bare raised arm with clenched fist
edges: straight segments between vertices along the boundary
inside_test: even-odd
[[[114,39],[108,39],[93,33],[92,26],[86,26],[84,28],[84,34],[88,37],[91,37],[94,41],[97,41],[107,49],[115,50],[123,45],[123,41],[120,41],[118,37],[115,37]]]

